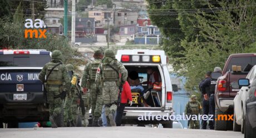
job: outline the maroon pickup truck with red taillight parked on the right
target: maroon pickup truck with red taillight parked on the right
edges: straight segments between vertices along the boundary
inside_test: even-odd
[[[245,78],[255,64],[256,54],[253,53],[229,56],[215,89],[215,130],[233,130],[233,120],[228,119],[233,115],[233,100],[240,90],[237,82]],[[232,66],[240,66],[241,70],[233,70]]]

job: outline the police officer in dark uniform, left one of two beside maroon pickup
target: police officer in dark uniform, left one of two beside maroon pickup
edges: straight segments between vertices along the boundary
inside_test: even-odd
[[[199,89],[201,91],[203,97],[203,114],[209,115],[210,114],[210,105],[209,105],[209,96],[210,95],[210,83],[211,83],[211,71],[207,71],[205,74],[205,79],[201,81],[199,84]],[[213,93],[214,94],[214,93]],[[209,128],[214,129],[213,121],[209,120]],[[201,129],[207,129],[207,121],[202,121]]]

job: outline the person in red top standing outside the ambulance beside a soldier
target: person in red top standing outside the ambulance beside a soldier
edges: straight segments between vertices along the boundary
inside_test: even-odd
[[[116,110],[116,126],[120,126],[122,123],[122,113],[124,112],[125,105],[129,100],[130,106],[132,105],[131,88],[127,81],[122,85],[121,102],[117,106]]]

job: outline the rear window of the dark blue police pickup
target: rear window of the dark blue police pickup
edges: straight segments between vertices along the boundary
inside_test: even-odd
[[[50,62],[50,55],[26,54],[0,55],[0,67],[43,67]]]

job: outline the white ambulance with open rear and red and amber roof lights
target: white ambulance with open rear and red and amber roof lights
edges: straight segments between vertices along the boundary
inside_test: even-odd
[[[163,50],[117,50],[116,59],[124,64],[128,73],[139,73],[140,85],[144,90],[149,88],[152,81],[147,70],[151,69],[157,74],[160,84],[156,89],[150,90],[147,100],[141,98],[142,94],[132,90],[132,106],[127,105],[122,117],[122,124],[163,124],[165,128],[172,128],[173,121],[173,88],[167,68],[167,57]],[[156,75],[155,75],[156,76]]]

